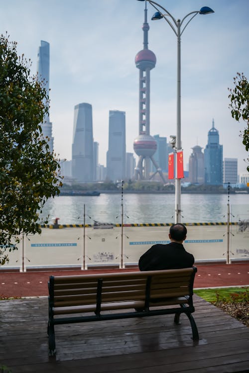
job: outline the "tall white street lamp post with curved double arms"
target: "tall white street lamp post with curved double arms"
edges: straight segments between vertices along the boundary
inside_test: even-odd
[[[138,0],[144,1],[144,0]],[[158,4],[152,0],[148,1],[157,11],[152,16],[152,20],[157,20],[164,18],[172,30],[174,31],[177,37],[177,115],[176,115],[176,144],[175,144],[175,151],[181,149],[181,35],[189,22],[197,15],[197,14],[210,14],[214,13],[214,10],[208,6],[203,6],[200,10],[192,11],[183,17],[182,20],[175,19],[168,10],[166,10],[163,6]],[[163,14],[159,9],[162,9],[165,14]],[[167,18],[171,18],[172,22]],[[187,20],[187,18],[190,19]],[[186,24],[183,24],[184,21]],[[176,162],[177,167],[177,162]],[[181,221],[181,179],[177,177],[177,170],[175,172],[175,223],[179,223]]]

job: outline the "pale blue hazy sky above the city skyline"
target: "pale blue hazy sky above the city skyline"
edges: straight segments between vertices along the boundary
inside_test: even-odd
[[[176,19],[198,14],[181,38],[181,138],[184,164],[191,148],[205,148],[208,131],[219,131],[223,157],[238,158],[245,172],[248,153],[238,123],[229,110],[229,91],[237,72],[249,78],[249,0],[157,0]],[[94,141],[99,163],[106,165],[109,110],[126,115],[126,152],[138,135],[138,74],[134,59],[143,48],[145,1],[137,0],[0,0],[0,32],[17,42],[18,54],[37,71],[41,40],[50,44],[50,120],[54,150],[71,160],[74,106],[93,107]],[[150,134],[176,134],[177,39],[168,23],[151,21],[147,4],[149,49],[157,58],[150,73]],[[135,156],[137,158],[137,156]]]

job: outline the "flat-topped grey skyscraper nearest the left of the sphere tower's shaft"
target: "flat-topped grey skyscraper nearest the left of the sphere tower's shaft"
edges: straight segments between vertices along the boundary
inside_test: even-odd
[[[107,178],[116,182],[125,178],[125,112],[109,111]]]

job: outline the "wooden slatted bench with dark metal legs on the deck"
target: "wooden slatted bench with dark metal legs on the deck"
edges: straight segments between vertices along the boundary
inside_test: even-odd
[[[190,320],[199,340],[194,312],[195,267],[179,270],[50,276],[47,333],[49,355],[55,355],[54,325],[175,314]],[[167,306],[167,307],[165,307]],[[112,312],[110,312],[112,310]],[[114,312],[115,311],[115,312]]]

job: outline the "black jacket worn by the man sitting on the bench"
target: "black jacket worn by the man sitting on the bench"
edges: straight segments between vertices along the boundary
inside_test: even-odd
[[[138,266],[140,271],[173,270],[193,267],[194,261],[182,244],[170,242],[151,246],[139,259]]]

